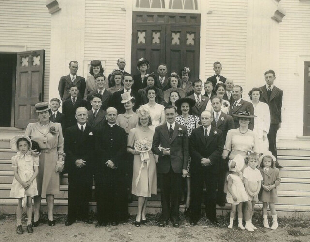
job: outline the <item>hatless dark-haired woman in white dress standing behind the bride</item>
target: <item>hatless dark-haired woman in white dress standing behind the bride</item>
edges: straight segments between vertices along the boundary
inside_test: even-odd
[[[155,86],[148,87],[146,89],[147,98],[149,99],[149,102],[147,104],[141,105],[141,107],[144,107],[149,110],[150,116],[152,119],[152,125],[150,126],[150,129],[155,130],[155,128],[161,124],[165,123],[165,111],[164,106],[161,104],[157,104],[156,99],[156,88]]]

